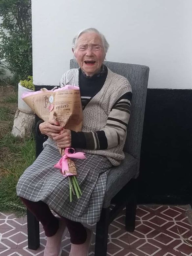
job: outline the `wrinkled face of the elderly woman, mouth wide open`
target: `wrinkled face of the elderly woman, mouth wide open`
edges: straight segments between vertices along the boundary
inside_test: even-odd
[[[86,75],[99,73],[105,59],[100,36],[94,32],[83,33],[76,42],[75,59]]]

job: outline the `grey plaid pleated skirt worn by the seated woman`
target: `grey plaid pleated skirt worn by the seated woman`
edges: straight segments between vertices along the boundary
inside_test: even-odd
[[[17,195],[33,202],[43,201],[53,211],[72,221],[93,224],[100,218],[106,181],[112,164],[105,156],[85,154],[86,159],[72,159],[82,191],[79,199],[69,201],[69,181],[54,164],[59,151],[46,145],[17,183]]]

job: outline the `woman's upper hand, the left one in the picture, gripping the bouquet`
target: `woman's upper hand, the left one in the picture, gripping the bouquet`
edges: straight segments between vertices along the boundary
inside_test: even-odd
[[[53,119],[51,121],[45,121],[43,123],[40,123],[39,130],[42,134],[45,134],[48,137],[53,138],[57,134],[59,134],[60,131],[63,130],[63,127],[59,126],[59,123],[55,119]]]

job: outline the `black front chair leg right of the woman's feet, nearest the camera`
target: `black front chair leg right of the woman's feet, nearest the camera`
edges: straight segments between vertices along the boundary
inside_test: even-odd
[[[95,256],[107,255],[108,228],[109,207],[102,208],[100,220],[96,225]]]

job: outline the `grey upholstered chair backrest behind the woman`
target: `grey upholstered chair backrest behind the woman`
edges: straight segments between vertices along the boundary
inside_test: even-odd
[[[149,67],[135,64],[105,61],[104,64],[114,73],[126,77],[132,87],[131,116],[128,124],[127,138],[124,151],[138,160],[138,172],[140,162],[140,149],[147,96],[147,84]],[[75,59],[70,60],[70,69],[78,68]]]

